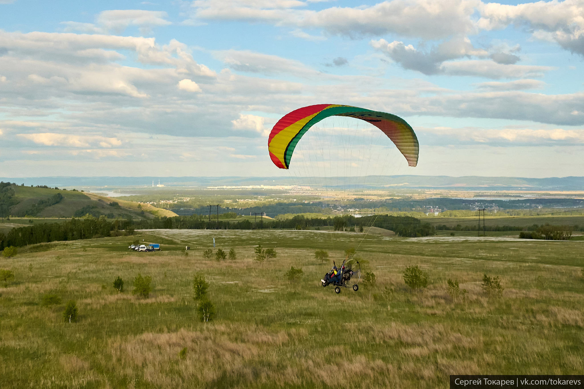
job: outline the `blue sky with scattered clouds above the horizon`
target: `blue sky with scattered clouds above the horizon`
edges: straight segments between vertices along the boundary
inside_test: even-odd
[[[0,177],[286,176],[324,103],[408,121],[400,174],[584,176],[583,61],[584,0],[0,0]]]

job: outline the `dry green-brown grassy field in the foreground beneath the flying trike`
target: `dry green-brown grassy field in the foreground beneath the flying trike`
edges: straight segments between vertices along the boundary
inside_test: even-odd
[[[204,260],[213,238],[237,260]],[[449,374],[584,369],[582,241],[291,230],[143,230],[134,239],[164,251],[128,251],[128,237],[118,237],[2,258],[16,278],[0,286],[0,387],[447,388]],[[259,243],[277,257],[253,261]],[[358,246],[376,288],[322,288],[330,265],[314,250],[339,263]],[[304,272],[295,285],[283,279],[291,265]],[[423,293],[405,286],[408,265],[428,272]],[[217,309],[208,323],[193,300],[196,272]],[[138,273],[152,276],[147,299],[130,293]],[[502,297],[482,291],[484,274],[502,279]],[[448,278],[468,291],[464,302],[453,305]],[[389,307],[385,286],[395,288]],[[47,293],[62,303],[41,306]],[[63,321],[68,300],[77,323]]]

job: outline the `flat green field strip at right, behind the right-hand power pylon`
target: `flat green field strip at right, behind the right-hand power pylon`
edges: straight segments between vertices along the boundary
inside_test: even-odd
[[[469,218],[420,218],[422,223],[430,223],[433,226],[447,225],[456,226],[475,226],[478,225],[478,216]],[[481,220],[482,223],[482,220]],[[504,216],[502,218],[486,216],[485,225],[487,226],[520,226],[527,227],[534,224],[544,225],[550,223],[551,225],[567,225],[567,226],[584,226],[584,215],[582,216]]]

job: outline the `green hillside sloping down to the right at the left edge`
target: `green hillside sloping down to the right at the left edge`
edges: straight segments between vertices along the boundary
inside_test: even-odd
[[[0,188],[0,216],[32,218],[71,218],[88,213],[109,219],[151,219],[155,216],[176,216],[166,209],[137,202],[116,200],[91,193],[54,188],[6,185]],[[141,208],[139,208],[139,206]]]

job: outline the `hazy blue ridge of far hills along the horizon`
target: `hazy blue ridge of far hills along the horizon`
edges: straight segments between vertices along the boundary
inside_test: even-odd
[[[303,184],[294,177],[32,177],[0,178],[2,181],[17,181],[25,185],[42,183],[58,187],[151,187],[152,182],[167,187],[208,187],[223,185],[298,185]],[[335,187],[336,177],[305,178],[305,184],[320,182]],[[366,187],[377,188],[443,188],[456,190],[536,190],[536,191],[582,191],[584,177],[449,177],[449,176],[369,176]]]

